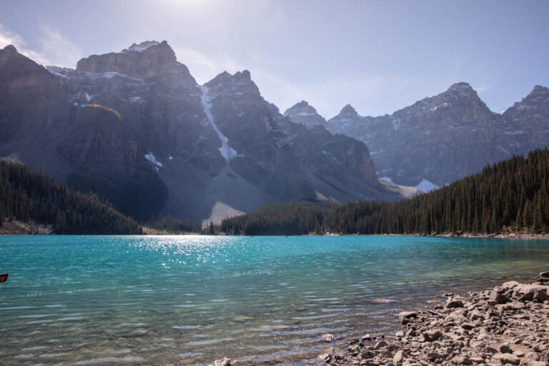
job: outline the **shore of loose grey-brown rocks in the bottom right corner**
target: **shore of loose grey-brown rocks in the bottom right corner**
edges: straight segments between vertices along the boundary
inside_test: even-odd
[[[318,362],[341,366],[549,366],[549,272],[537,282],[448,295],[434,310],[401,312],[394,336],[365,335]]]

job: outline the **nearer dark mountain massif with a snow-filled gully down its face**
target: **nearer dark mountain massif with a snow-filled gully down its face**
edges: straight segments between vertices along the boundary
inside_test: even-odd
[[[249,71],[204,85],[166,41],[47,69],[0,50],[0,157],[122,212],[214,219],[304,198],[398,199],[363,142],[282,116]]]

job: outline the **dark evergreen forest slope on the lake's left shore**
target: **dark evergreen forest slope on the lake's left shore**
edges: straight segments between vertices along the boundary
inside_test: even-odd
[[[142,234],[134,219],[98,197],[0,159],[0,227],[13,218],[51,224],[56,234]]]

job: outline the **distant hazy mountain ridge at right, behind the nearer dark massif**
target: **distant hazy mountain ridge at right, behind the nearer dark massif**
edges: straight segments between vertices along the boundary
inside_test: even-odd
[[[380,178],[428,191],[488,163],[548,146],[549,90],[535,86],[498,114],[460,82],[393,114],[363,117],[347,104],[318,124],[365,142]]]

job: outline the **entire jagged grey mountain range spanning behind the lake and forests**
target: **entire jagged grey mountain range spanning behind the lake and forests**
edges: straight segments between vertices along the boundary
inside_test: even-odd
[[[392,202],[548,142],[543,86],[500,114],[458,83],[390,115],[347,104],[326,120],[304,101],[281,114],[247,70],[200,85],[166,41],[75,69],[0,50],[0,157],[140,220],[220,222],[300,199]]]

